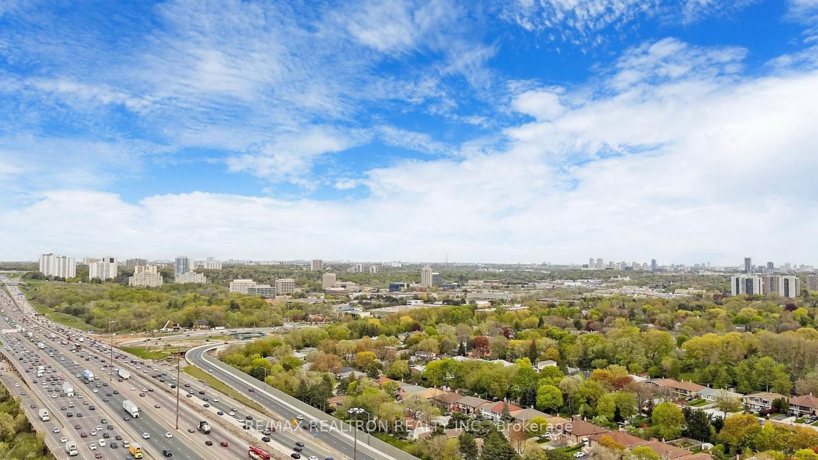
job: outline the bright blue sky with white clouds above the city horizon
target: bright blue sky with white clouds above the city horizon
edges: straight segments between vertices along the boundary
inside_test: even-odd
[[[816,0],[0,0],[0,258],[818,263],[816,65]]]

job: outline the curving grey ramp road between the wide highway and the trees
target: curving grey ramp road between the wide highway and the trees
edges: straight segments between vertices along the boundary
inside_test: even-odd
[[[244,372],[231,368],[227,364],[222,363],[221,361],[218,361],[218,359],[214,359],[212,356],[207,354],[206,351],[213,349],[214,346],[215,345],[202,345],[191,349],[187,352],[187,360],[208,372],[212,370],[213,372],[210,373],[213,375],[213,377],[218,378],[220,381],[224,381],[227,383],[227,385],[234,388],[249,389],[250,387],[253,387],[255,391],[252,394],[252,397],[258,404],[262,404],[264,407],[269,408],[274,413],[280,414],[287,420],[292,420],[298,416],[303,416],[306,420],[311,419],[311,417],[308,417],[300,413],[297,409],[290,407],[289,404],[285,404],[280,399],[269,395],[266,391],[264,391],[263,384],[261,384],[261,382],[258,380],[247,376]],[[327,416],[324,421],[327,425],[331,425],[333,419]],[[310,435],[310,433],[305,432],[304,435]],[[317,439],[324,441],[335,450],[344,453],[344,455],[348,456],[348,458],[353,458],[355,456],[355,441],[353,433],[343,433],[334,428],[332,430],[313,431],[312,435],[317,435]],[[367,446],[366,434],[361,432],[359,432],[357,435],[357,458],[360,460],[391,459],[391,457],[385,453],[381,453],[380,451]]]

